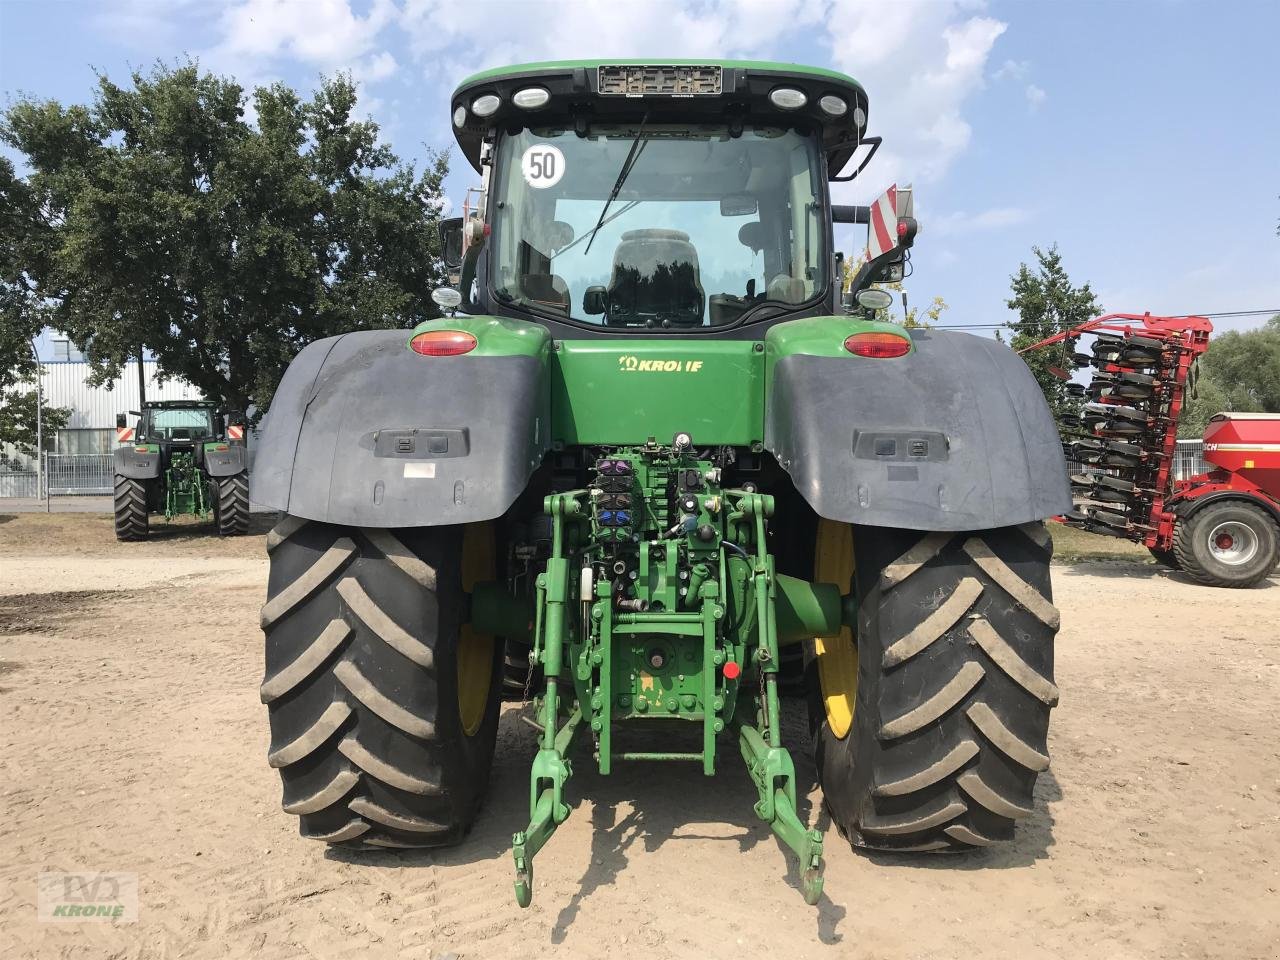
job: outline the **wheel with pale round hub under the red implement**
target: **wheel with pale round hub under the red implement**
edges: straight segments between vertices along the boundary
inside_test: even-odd
[[[1256,586],[1280,558],[1280,529],[1245,500],[1217,500],[1174,525],[1174,554],[1187,576],[1207,586]]]

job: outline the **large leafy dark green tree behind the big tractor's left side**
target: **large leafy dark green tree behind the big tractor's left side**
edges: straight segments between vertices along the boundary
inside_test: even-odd
[[[255,124],[243,88],[193,63],[131,79],[100,77],[87,106],[23,99],[0,122],[41,211],[24,273],[95,381],[145,348],[161,378],[264,411],[311,340],[438,315],[445,157],[401,163],[353,119],[349,77],[308,101],[259,87]]]

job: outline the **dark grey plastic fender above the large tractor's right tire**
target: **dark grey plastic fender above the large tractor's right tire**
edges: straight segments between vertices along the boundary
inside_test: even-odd
[[[984,530],[1057,516],[1061,442],[1027,365],[996,340],[911,330],[892,360],[778,360],[765,448],[829,520]]]

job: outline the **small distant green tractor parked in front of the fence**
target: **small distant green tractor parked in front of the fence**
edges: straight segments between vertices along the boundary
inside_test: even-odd
[[[152,513],[248,531],[244,419],[207,401],[155,401],[115,417],[115,539],[146,540]]]

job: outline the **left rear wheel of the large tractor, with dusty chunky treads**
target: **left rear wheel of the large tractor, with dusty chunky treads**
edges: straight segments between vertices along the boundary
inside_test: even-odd
[[[498,733],[500,650],[462,622],[493,577],[492,527],[284,517],[268,552],[261,692],[285,813],[342,846],[460,841]]]

